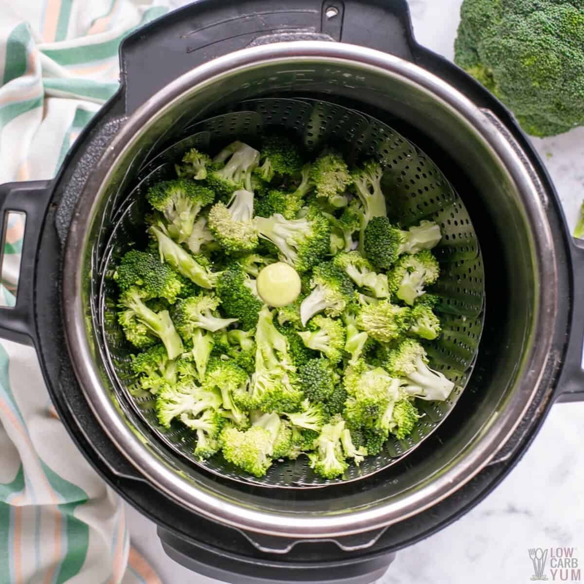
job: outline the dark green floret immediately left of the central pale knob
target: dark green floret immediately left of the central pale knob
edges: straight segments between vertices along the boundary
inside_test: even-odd
[[[216,292],[221,298],[221,307],[229,317],[237,318],[245,331],[258,324],[263,306],[254,290],[255,280],[237,263],[228,266],[217,280]]]

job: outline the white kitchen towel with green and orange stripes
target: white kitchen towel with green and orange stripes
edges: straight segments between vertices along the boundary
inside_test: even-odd
[[[161,2],[0,1],[0,183],[50,179],[116,92],[120,40]],[[23,223],[6,229],[0,300],[13,305]],[[58,420],[34,350],[0,345],[0,584],[159,583],[130,547],[120,498]]]

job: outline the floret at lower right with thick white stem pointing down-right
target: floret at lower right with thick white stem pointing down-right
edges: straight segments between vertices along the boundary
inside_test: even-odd
[[[421,399],[444,401],[454,384],[439,371],[427,366],[424,347],[416,340],[406,339],[390,351],[384,367],[392,375],[405,378],[401,390]]]

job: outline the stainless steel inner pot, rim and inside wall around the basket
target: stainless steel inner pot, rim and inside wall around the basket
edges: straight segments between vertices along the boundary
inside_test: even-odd
[[[496,323],[506,350],[493,361],[488,383],[478,384],[472,407],[431,456],[416,457],[415,463],[398,470],[390,468],[373,482],[326,493],[258,489],[187,467],[115,398],[99,331],[91,319],[91,307],[100,301],[92,284],[99,252],[107,244],[114,210],[144,160],[222,107],[272,95],[350,100],[353,107],[357,103],[373,108],[380,118],[403,120],[446,152],[474,186],[460,192],[461,198],[479,200],[494,226],[489,237],[499,242],[500,273],[506,274],[513,314],[513,319]],[[416,65],[378,51],[322,41],[270,44],[217,58],[172,82],[138,109],[86,182],[67,240],[62,293],[69,307],[64,313],[68,348],[85,397],[141,475],[210,519],[259,534],[326,538],[380,529],[415,515],[484,468],[520,423],[538,389],[558,310],[547,201],[535,173],[501,127],[490,112]],[[481,240],[483,248],[489,243]],[[489,276],[487,271],[485,277],[498,274]]]

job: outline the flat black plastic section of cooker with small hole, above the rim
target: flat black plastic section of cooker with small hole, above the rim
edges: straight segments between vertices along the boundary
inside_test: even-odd
[[[329,40],[413,61],[406,0],[199,0],[138,29],[120,47],[126,113],[187,71],[255,44]]]

